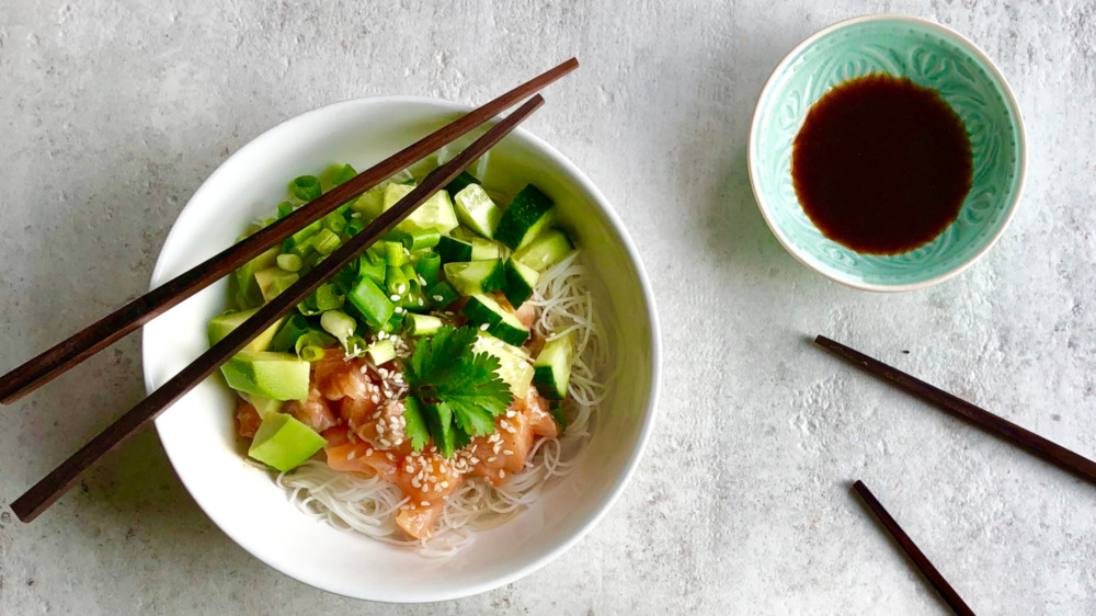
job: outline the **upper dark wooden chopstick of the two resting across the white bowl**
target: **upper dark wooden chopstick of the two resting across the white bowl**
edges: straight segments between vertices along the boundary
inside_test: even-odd
[[[187,272],[134,299],[77,332],[37,357],[0,377],[0,403],[11,404],[54,377],[110,346],[176,304],[228,275],[244,263],[319,220],[340,205],[407,169],[521,100],[530,96],[579,67],[574,58],[472,110],[464,117],[390,156],[347,182],[335,186],[289,216],[195,265]]]

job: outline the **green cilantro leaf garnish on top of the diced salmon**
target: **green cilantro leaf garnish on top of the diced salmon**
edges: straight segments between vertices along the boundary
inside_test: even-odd
[[[411,360],[403,362],[409,400],[415,399],[426,432],[445,457],[452,457],[472,436],[492,434],[494,418],[514,399],[510,386],[498,375],[498,357],[472,351],[478,335],[470,327],[442,328],[432,338],[420,340]],[[416,443],[411,421],[408,434],[418,452],[425,442],[420,438]],[[422,431],[418,435],[422,436]]]

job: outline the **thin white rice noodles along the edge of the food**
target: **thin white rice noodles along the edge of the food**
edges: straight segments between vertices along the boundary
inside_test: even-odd
[[[575,334],[575,358],[562,407],[567,430],[558,438],[538,440],[525,468],[503,486],[495,488],[482,478],[467,476],[446,499],[432,538],[408,539],[397,528],[396,514],[408,499],[399,487],[379,478],[332,470],[326,463],[310,460],[278,475],[277,484],[311,517],[385,543],[420,546],[425,556],[450,556],[471,540],[472,532],[514,517],[540,495],[549,479],[573,470],[574,457],[590,440],[594,409],[607,395],[607,384],[598,375],[607,364],[608,349],[579,253],[541,274],[530,300],[539,313],[533,323],[534,335]]]

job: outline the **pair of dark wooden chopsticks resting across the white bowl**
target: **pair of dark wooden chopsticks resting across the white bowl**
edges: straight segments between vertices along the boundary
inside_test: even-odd
[[[488,122],[500,112],[513,106],[560,77],[578,68],[574,58],[518,85],[464,117],[397,152],[379,164],[363,171],[344,184],[292,215],[266,227],[248,239],[222,251],[205,263],[157,287],[147,295],[130,301],[117,311],[46,351],[42,355],[0,377],[0,397],[4,403],[22,396],[64,373],[95,352],[134,331],[156,316],[194,295],[214,281],[237,270],[260,253],[277,244],[297,230],[318,220],[351,198],[364,193],[387,178],[408,168],[431,152],[436,151],[472,128]],[[16,499],[11,509],[23,522],[31,522],[64,494],[79,476],[106,452],[133,436],[148,421],[174,403],[198,383],[213,374],[225,361],[243,349],[252,339],[272,327],[283,315],[295,308],[310,293],[335,272],[349,265],[366,248],[383,238],[415,207],[452,182],[469,164],[487,153],[525,118],[533,114],[544,99],[536,94],[516,111],[491,127],[482,137],[452,161],[438,168],[422,184],[415,186],[398,204],[380,215],[364,230],[352,237],[316,267],[300,277],[289,288],[263,306],[242,326],[203,353],[148,398],[126,412],[101,434],[91,440],[53,472]]]

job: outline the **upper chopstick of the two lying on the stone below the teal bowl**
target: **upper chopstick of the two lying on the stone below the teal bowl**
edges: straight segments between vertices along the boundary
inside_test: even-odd
[[[1018,445],[1029,454],[1035,454],[1082,479],[1096,483],[1096,463],[1084,456],[824,335],[815,338],[814,344],[872,376],[889,381],[891,385],[895,385],[926,402],[932,402],[995,436]]]

